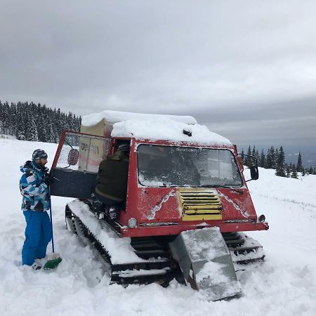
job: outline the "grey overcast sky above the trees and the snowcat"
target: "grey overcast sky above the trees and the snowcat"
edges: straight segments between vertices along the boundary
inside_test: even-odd
[[[316,1],[0,0],[0,100],[316,144]]]

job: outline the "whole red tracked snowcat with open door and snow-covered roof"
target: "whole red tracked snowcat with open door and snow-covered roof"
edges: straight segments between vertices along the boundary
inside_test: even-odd
[[[126,204],[113,218],[91,195],[100,162],[129,144]],[[258,179],[258,164],[249,166]],[[236,272],[263,261],[245,232],[268,230],[257,216],[236,145],[193,117],[105,111],[64,131],[51,195],[73,197],[67,229],[110,263],[111,282],[169,284],[176,278],[216,301],[239,295]],[[114,171],[113,171],[114,173]]]

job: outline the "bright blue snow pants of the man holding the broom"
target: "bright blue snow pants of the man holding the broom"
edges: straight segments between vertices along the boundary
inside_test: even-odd
[[[46,211],[23,211],[27,226],[22,248],[22,265],[32,265],[34,258],[44,258],[51,241],[51,221]]]

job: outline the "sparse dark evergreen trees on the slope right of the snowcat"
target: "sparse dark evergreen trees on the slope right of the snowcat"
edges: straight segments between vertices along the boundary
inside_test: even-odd
[[[271,146],[267,153],[262,150],[261,154],[259,154],[258,149],[254,146],[251,150],[249,145],[246,156],[244,156],[244,148],[242,148],[241,158],[242,162],[246,166],[251,166],[256,164],[251,156],[256,157],[258,161],[258,166],[265,169],[275,169],[276,176],[287,177],[287,178],[298,178],[298,172],[301,173],[302,176],[305,174],[315,174],[316,175],[316,166],[309,168],[305,168],[302,162],[302,154],[298,153],[297,163],[288,164],[285,160],[285,152],[283,147],[275,148]]]

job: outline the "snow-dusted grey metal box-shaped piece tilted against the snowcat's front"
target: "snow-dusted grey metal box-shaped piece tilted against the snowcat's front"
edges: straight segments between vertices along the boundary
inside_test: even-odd
[[[185,282],[209,300],[218,301],[240,293],[232,257],[219,228],[181,232],[169,246]]]

